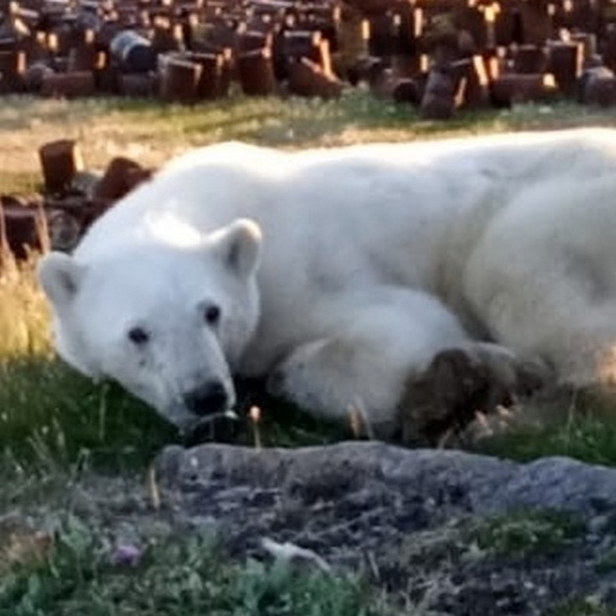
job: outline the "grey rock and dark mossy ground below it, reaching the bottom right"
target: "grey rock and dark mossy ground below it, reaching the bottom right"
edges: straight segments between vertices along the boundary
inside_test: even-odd
[[[205,520],[230,554],[267,557],[264,537],[291,543],[428,611],[530,616],[609,595],[613,469],[377,442],[173,446],[157,468],[163,503],[170,495],[186,527]]]

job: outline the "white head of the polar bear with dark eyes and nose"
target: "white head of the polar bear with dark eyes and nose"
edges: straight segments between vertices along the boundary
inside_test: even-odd
[[[183,431],[235,403],[232,371],[259,320],[261,230],[237,220],[188,246],[136,242],[80,261],[49,253],[39,281],[55,346]]]

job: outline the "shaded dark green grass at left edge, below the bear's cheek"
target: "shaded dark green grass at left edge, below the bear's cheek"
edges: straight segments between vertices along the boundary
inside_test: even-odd
[[[144,464],[175,431],[113,384],[94,384],[62,363],[0,366],[0,448],[16,460],[69,467]]]

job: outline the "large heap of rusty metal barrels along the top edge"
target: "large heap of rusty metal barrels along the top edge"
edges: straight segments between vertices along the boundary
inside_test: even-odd
[[[194,103],[370,87],[426,118],[616,103],[610,0],[4,1],[0,91]]]

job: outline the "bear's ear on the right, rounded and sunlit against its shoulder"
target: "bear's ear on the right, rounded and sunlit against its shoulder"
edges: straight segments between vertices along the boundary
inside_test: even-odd
[[[239,218],[216,233],[216,251],[224,264],[240,278],[254,274],[261,256],[262,235],[259,225]]]

